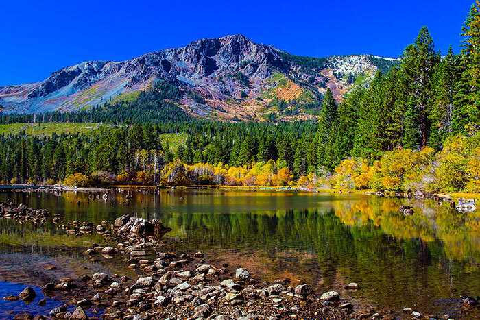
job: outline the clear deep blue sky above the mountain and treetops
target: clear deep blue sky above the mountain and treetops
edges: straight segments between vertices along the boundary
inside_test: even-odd
[[[473,0],[14,1],[1,5],[0,86],[38,82],[63,66],[121,61],[241,33],[302,56],[397,57],[423,25],[459,51]]]

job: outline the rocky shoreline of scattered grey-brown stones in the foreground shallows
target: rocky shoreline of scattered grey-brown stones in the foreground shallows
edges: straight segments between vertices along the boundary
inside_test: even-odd
[[[95,273],[50,282],[43,286],[43,293],[55,293],[69,304],[49,315],[23,313],[14,319],[88,319],[85,310],[94,314],[91,319],[396,319],[392,311],[354,306],[335,291],[317,292],[309,284],[291,286],[289,279],[268,283],[245,268],[233,271],[226,264],[210,264],[201,252],[189,255],[160,250],[165,247],[161,236],[168,230],[156,221],[125,215],[97,226],[64,223],[47,210],[15,206],[10,201],[0,202],[0,217],[19,223],[51,219],[68,234],[101,234],[108,245],[93,244],[84,254],[92,260],[115,258],[138,277]],[[351,283],[347,288],[359,287]],[[35,295],[32,288],[25,288],[18,297],[3,299],[27,301]],[[67,311],[69,306],[75,306],[75,311]],[[422,317],[411,309],[404,312]]]

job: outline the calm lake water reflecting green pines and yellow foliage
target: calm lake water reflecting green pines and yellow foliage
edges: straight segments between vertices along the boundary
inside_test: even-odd
[[[460,213],[430,200],[270,190],[141,191],[134,192],[130,206],[123,193],[90,201],[80,192],[0,193],[6,199],[45,208],[65,221],[156,217],[172,228],[165,250],[202,251],[210,261],[246,267],[261,280],[305,281],[317,291],[335,290],[348,301],[398,315],[408,307],[457,319],[480,317],[479,308],[464,308],[459,299],[462,293],[480,295],[478,210]],[[401,204],[415,213],[404,216]],[[82,250],[93,241],[102,238],[1,219],[0,282],[41,286],[86,270],[132,272],[111,260],[86,261]],[[46,265],[58,269],[48,271]],[[349,282],[359,290],[345,290]]]

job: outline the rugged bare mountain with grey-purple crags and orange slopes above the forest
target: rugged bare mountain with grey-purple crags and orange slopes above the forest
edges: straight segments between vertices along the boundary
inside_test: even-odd
[[[241,34],[191,42],[124,62],[90,61],[52,73],[43,82],[0,87],[5,113],[70,112],[130,99],[162,81],[181,89],[176,102],[211,119],[284,119],[317,114],[326,88],[337,101],[366,86],[396,60],[370,55],[310,58],[257,44]]]

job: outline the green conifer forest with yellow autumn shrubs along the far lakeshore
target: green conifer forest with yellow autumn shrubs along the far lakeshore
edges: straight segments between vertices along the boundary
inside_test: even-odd
[[[479,9],[476,1],[462,27],[459,54],[435,51],[423,27],[400,63],[379,71],[367,88],[357,86],[339,104],[328,89],[317,123],[193,119],[176,105],[187,89],[165,82],[90,110],[3,115],[0,123],[111,126],[89,134],[0,136],[0,179],[72,184],[77,174],[82,184],[479,191]],[[178,132],[188,134],[178,149],[160,139]]]

